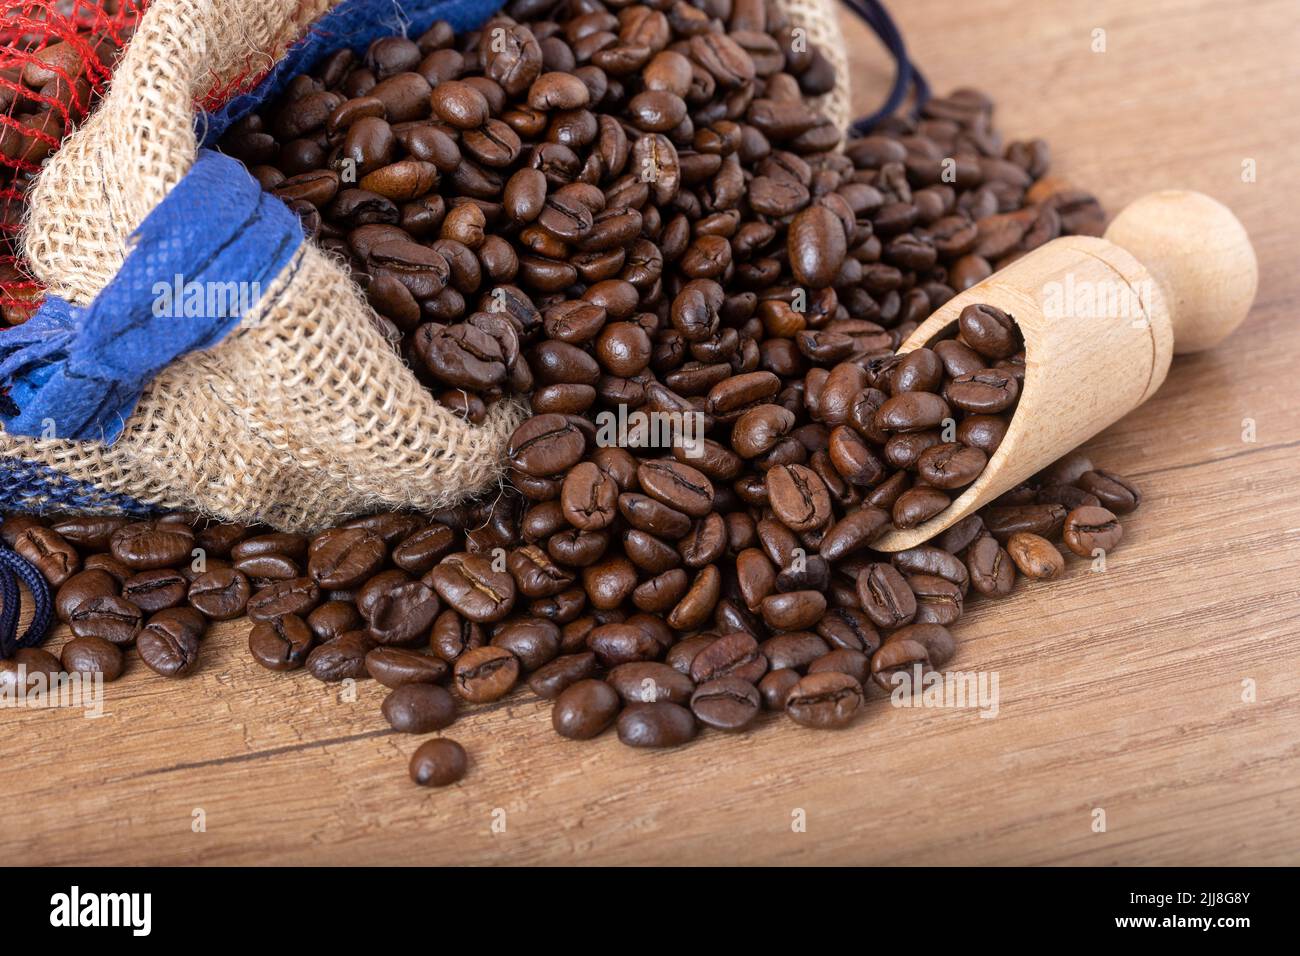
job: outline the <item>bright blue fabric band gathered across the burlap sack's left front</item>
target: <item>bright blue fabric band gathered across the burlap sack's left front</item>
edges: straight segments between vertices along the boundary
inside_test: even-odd
[[[144,386],[173,359],[220,342],[302,243],[298,216],[243,164],[200,150],[94,302],[48,295],[0,336],[5,431],[112,444]]]

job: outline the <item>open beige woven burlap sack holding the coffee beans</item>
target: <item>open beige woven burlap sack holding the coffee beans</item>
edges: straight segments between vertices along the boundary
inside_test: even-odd
[[[844,79],[826,104],[842,127],[848,75],[832,0],[779,1]],[[51,293],[94,299],[133,230],[192,165],[192,104],[274,62],[335,3],[155,0],[99,111],[34,187],[26,254]],[[348,276],[304,243],[231,334],[151,382],[112,445],[0,432],[0,460],[30,476],[32,510],[55,475],[78,490],[51,494],[48,507],[199,510],[306,531],[482,490],[499,481],[525,414],[500,402],[472,427],[434,402]]]

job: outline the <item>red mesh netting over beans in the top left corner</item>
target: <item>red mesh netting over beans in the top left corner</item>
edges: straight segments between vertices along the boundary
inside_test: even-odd
[[[86,117],[148,0],[0,0],[0,328],[42,289],[18,258],[27,186]]]

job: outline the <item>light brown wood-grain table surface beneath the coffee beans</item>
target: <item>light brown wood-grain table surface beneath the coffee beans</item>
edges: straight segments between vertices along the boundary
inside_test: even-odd
[[[992,94],[1009,137],[1112,212],[1199,189],[1245,222],[1254,311],[1178,359],[1091,444],[1145,502],[1102,574],[975,602],[953,667],[1000,708],[896,709],[850,730],[767,717],[667,753],[555,736],[526,692],[451,730],[472,767],[429,791],[419,739],[273,675],[216,628],[200,670],[138,661],[105,715],[0,710],[0,857],[42,864],[1295,864],[1300,860],[1300,10],[1295,0],[894,3],[940,91]],[[1105,30],[1105,52],[1092,52]],[[855,99],[889,69],[846,23]],[[1256,181],[1243,182],[1253,160]],[[1253,423],[1253,436],[1249,428]],[[57,653],[64,636],[49,646]],[[1247,691],[1253,687],[1253,695]],[[1104,812],[1105,830],[1096,821]],[[802,821],[802,826],[797,823]]]

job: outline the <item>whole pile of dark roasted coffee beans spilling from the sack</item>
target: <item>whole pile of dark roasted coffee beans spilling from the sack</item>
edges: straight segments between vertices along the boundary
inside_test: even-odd
[[[1139,493],[1072,454],[926,545],[872,549],[979,476],[1024,377],[992,306],[896,350],[1017,256],[1101,230],[1041,140],[1004,147],[963,90],[840,150],[807,100],[826,59],[763,0],[507,12],[338,53],[224,148],[348,265],[441,402],[530,402],[508,484],[309,537],[10,518],[0,537],[74,633],[47,667],[117,674],[134,643],[183,675],[205,622],[247,614],[260,665],[373,678],[400,732],[521,683],[572,739],[671,747],[762,710],[841,727],[942,669],[967,601],[1061,574],[1058,540],[1119,542]],[[630,414],[673,427],[611,440]],[[410,770],[442,786],[467,765],[437,737]]]

